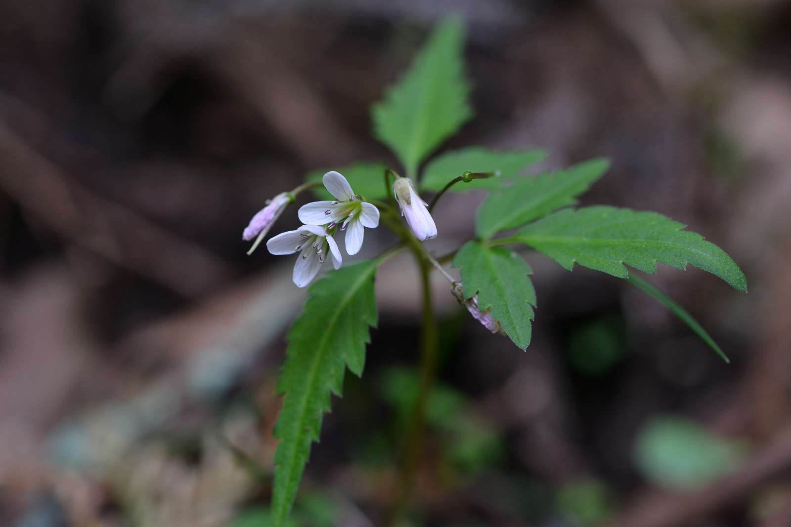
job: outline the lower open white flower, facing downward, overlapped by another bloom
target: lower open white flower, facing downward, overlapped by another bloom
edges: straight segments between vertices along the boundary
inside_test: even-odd
[[[271,254],[294,254],[293,280],[297,287],[304,288],[316,277],[321,264],[327,258],[327,249],[332,258],[332,266],[341,266],[341,251],[332,238],[331,233],[317,225],[302,225],[296,231],[287,231],[273,236],[267,241],[267,249]]]

